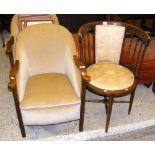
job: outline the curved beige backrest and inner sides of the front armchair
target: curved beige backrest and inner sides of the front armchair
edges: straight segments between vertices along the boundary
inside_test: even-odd
[[[80,96],[81,88],[79,83],[75,82],[80,79],[73,62],[75,54],[72,34],[65,27],[46,23],[25,28],[18,35],[16,42],[16,60],[20,63],[19,99],[23,98],[28,77],[43,73],[65,74]]]

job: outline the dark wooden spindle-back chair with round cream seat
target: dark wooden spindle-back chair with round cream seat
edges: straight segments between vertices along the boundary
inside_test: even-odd
[[[121,22],[97,21],[79,29],[83,50],[81,60],[87,67],[90,82],[87,88],[102,95],[106,108],[108,131],[115,97],[131,94],[131,112],[141,63],[150,37],[140,28]],[[88,101],[88,100],[87,100]]]

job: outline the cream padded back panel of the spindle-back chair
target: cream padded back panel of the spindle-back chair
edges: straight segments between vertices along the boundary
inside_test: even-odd
[[[119,63],[125,27],[116,25],[96,25],[95,59],[96,63]]]

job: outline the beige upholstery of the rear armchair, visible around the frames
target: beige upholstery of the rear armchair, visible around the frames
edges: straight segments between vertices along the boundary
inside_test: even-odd
[[[16,54],[16,52],[15,52],[16,37],[19,34],[18,16],[20,16],[20,14],[16,14],[16,15],[13,16],[13,18],[11,20],[11,25],[10,25],[11,36],[14,37],[14,45],[13,45],[13,50],[12,50],[13,58],[15,58],[15,54]],[[58,17],[55,14],[50,14],[50,16],[53,19],[54,24],[59,24]],[[37,24],[37,23],[35,23],[35,24]]]

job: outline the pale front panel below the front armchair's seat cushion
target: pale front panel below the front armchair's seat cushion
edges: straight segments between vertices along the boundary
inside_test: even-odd
[[[80,104],[22,110],[24,125],[57,124],[80,118]]]

